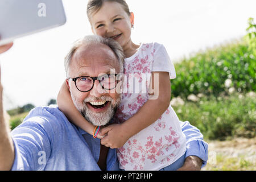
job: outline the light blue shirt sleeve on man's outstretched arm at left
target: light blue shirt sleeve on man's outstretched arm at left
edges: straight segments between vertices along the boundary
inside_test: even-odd
[[[40,114],[41,110],[32,110],[23,123],[11,131],[15,150],[12,171],[42,170],[46,166],[56,121],[50,113]]]

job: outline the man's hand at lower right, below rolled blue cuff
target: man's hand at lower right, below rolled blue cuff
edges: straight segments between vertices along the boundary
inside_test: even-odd
[[[177,171],[200,171],[203,161],[197,156],[188,156],[185,159],[183,167],[177,169]]]

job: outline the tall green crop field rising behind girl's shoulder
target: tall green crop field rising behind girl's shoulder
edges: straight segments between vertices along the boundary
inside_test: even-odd
[[[177,78],[171,81],[172,97],[203,93],[228,93],[227,79],[237,92],[256,90],[256,52],[247,38],[196,53],[175,64]]]

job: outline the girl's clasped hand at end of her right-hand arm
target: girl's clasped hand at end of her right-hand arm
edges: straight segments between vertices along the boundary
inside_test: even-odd
[[[130,138],[127,132],[123,129],[122,124],[114,124],[101,129],[100,133],[104,138],[101,139],[101,144],[110,148],[120,148]]]

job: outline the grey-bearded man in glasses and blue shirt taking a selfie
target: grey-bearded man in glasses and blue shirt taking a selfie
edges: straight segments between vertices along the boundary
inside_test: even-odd
[[[10,47],[0,47],[0,53]],[[76,42],[66,58],[72,100],[91,122],[108,124],[121,101],[121,94],[105,92],[99,77],[110,69],[121,73],[122,59],[118,43],[98,36]],[[80,92],[77,79],[81,76],[93,78],[89,92]],[[108,101],[108,105],[96,111],[84,104],[97,101]],[[115,149],[102,146],[100,139],[73,125],[57,106],[36,107],[9,133],[2,117],[2,98],[0,103],[0,170],[119,170]],[[207,143],[188,122],[181,125],[187,137],[187,158],[181,169],[200,169],[202,161],[207,161]]]

